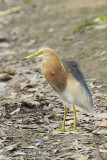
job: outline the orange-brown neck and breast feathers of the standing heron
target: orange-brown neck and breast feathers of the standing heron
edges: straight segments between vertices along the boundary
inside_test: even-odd
[[[65,90],[68,72],[58,56],[45,58],[41,69],[46,80],[56,92],[60,93]]]

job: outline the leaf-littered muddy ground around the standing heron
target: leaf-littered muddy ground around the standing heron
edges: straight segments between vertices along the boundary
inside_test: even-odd
[[[0,11],[0,160],[106,160],[107,2],[3,0]],[[55,130],[63,104],[41,60],[21,61],[41,47],[78,61],[85,74],[94,111],[77,111],[81,130]],[[66,126],[73,127],[72,108]]]

